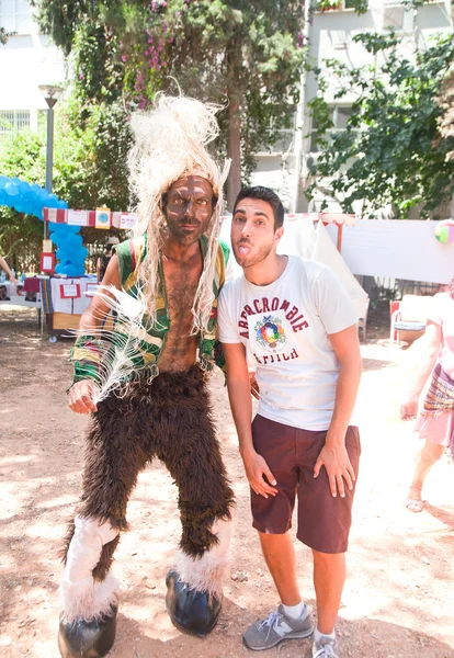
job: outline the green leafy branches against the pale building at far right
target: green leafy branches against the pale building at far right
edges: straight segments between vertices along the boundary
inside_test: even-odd
[[[415,48],[410,60],[398,54],[393,33],[361,34],[355,41],[383,54],[384,64],[349,69],[327,63],[339,87],[336,99],[355,90],[357,100],[347,129],[332,135],[327,102],[320,97],[309,103],[321,149],[311,173],[345,212],[363,201],[364,216],[389,205],[399,217],[408,217],[413,206],[421,206],[421,217],[433,215],[454,193],[454,162],[447,158],[454,137],[440,134],[445,109],[438,102],[454,43],[451,36],[439,38],[425,50]],[[309,186],[309,198],[317,185]]]

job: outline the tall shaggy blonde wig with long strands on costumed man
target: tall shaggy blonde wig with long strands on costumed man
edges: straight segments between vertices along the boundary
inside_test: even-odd
[[[154,110],[135,112],[130,121],[135,146],[129,154],[129,170],[132,190],[138,198],[135,235],[148,234],[147,257],[141,264],[140,280],[148,315],[154,322],[159,252],[167,226],[162,195],[180,178],[196,174],[212,184],[217,197],[206,231],[208,249],[192,307],[192,333],[206,330],[212,310],[213,279],[224,212],[223,186],[230,167],[230,160],[226,160],[220,169],[205,148],[219,134],[216,121],[219,109],[219,105],[182,95],[158,94]]]

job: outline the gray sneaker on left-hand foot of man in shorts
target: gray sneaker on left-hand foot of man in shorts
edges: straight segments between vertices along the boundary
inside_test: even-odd
[[[248,649],[260,651],[271,649],[284,639],[308,637],[314,632],[313,609],[306,605],[303,614],[297,620],[285,614],[282,605],[272,612],[265,620],[256,622],[250,626],[242,640]]]

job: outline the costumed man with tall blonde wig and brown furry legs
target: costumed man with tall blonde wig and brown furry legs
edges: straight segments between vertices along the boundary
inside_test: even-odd
[[[179,488],[180,551],[167,576],[167,609],[205,636],[223,597],[234,495],[211,418],[217,295],[228,249],[219,242],[223,184],[206,150],[217,107],[158,98],[132,117],[129,157],[137,237],[115,248],[80,321],[69,406],[91,413],[82,495],[70,524],[60,586],[65,658],[113,645],[117,582],[110,574],[137,475],[154,456]],[[101,325],[113,310],[113,329]]]

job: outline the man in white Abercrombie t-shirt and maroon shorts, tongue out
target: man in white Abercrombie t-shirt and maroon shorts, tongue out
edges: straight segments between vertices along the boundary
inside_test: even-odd
[[[361,452],[352,419],[361,378],[356,315],[331,270],[276,254],[284,208],[266,188],[242,190],[231,245],[243,275],[219,296],[218,326],[240,453],[251,486],[253,526],[281,598],[243,635],[266,649],[314,632],[300,597],[288,530],[313,549],[317,628],[313,656],[339,656],[334,624]],[[252,422],[249,370],[260,404]]]

